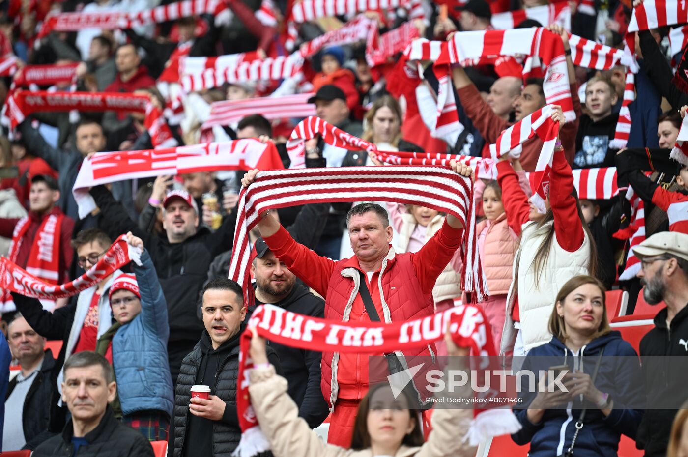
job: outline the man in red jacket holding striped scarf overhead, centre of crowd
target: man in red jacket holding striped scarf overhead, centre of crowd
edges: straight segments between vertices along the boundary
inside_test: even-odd
[[[452,164],[454,171],[471,176],[471,167]],[[250,185],[258,170],[249,171],[241,181]],[[321,257],[299,244],[277,220],[265,211],[258,229],[270,251],[292,273],[325,297],[325,319],[342,322],[370,322],[359,294],[361,281],[381,321],[404,322],[432,315],[432,289],[437,277],[449,264],[462,240],[462,223],[447,215],[438,231],[417,253],[396,254],[391,246],[392,229],[387,210],[372,203],[354,206],[347,215],[349,239],[354,257],[332,260]],[[403,365],[410,357],[434,355],[434,348],[396,352]],[[382,355],[382,354],[377,354]],[[330,432],[327,442],[349,447],[358,403],[368,390],[368,357],[360,354],[323,352],[321,361],[323,396],[330,406]],[[416,385],[424,403],[426,396]]]

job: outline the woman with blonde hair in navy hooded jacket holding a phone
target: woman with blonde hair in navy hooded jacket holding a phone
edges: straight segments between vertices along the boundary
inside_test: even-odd
[[[643,412],[626,405],[641,403],[643,385],[637,382],[638,354],[609,326],[599,279],[581,275],[566,281],[548,326],[554,337],[528,352],[523,370],[568,365],[570,370],[561,380],[566,392],[538,390],[537,395],[522,397],[522,409],[515,414],[523,428],[512,435],[513,440],[519,445],[530,443],[528,455],[533,457],[560,456],[571,448],[577,456],[616,456],[621,434],[636,437]],[[616,358],[618,362],[611,362]],[[578,431],[583,408],[585,421]]]

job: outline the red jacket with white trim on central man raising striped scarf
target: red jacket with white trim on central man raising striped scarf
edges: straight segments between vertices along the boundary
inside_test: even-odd
[[[460,246],[461,239],[462,231],[452,229],[444,222],[442,229],[417,253],[396,254],[390,246],[382,268],[373,274],[372,281],[368,281],[368,290],[380,319],[404,322],[432,315],[433,286]],[[363,300],[358,295],[358,271],[361,269],[356,257],[341,261],[321,257],[295,242],[283,228],[275,235],[266,237],[265,241],[294,275],[325,297],[325,319],[370,321]],[[409,357],[434,355],[435,349],[419,348],[397,354],[401,354],[400,358],[404,361]],[[321,387],[330,409],[339,397],[360,399],[366,394],[369,383],[368,356],[323,352]],[[333,372],[336,372],[336,379],[332,379]],[[424,391],[424,384],[419,384],[417,387],[424,401],[432,395]]]

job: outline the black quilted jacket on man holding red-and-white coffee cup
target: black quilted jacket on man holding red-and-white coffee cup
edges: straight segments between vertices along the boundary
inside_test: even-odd
[[[213,349],[210,335],[204,331],[193,351],[184,357],[175,387],[171,424],[174,427],[174,457],[191,457],[192,454],[211,457],[210,453],[212,457],[230,457],[239,445],[241,429],[237,418],[237,378],[241,331],[216,350]],[[268,360],[281,374],[279,358],[272,348],[268,348]],[[219,421],[189,413],[191,386],[197,384],[208,385],[211,395],[217,395],[225,402],[224,415]],[[184,449],[186,441],[189,445],[193,443],[189,449]]]

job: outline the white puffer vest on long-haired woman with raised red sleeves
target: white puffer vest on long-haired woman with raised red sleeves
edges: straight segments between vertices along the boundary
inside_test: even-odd
[[[581,247],[572,253],[559,245],[555,233],[547,262],[538,278],[534,268],[535,255],[547,233],[552,229],[552,224],[554,221],[537,229],[537,222],[526,222],[522,227],[521,244],[515,255],[513,277],[516,277],[516,266],[520,263],[517,295],[521,332],[526,351],[552,339],[552,334],[548,330],[548,323],[561,286],[574,276],[590,273],[588,270],[588,263],[590,262],[588,233],[585,233]],[[516,299],[515,293],[514,282],[512,282],[506,299],[506,319],[504,319],[504,331],[500,345],[500,353],[502,354],[513,350],[516,339],[514,322],[511,319],[511,312]]]

